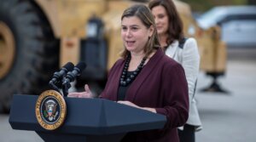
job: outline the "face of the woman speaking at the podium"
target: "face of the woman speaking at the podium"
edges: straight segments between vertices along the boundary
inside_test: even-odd
[[[121,28],[125,48],[131,53],[143,53],[148,37],[153,34],[153,26],[147,28],[137,16],[131,16],[123,18]]]

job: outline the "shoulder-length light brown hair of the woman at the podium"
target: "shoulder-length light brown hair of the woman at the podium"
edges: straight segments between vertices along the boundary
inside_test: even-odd
[[[128,9],[125,9],[124,13],[122,14],[121,20],[125,17],[137,16],[139,20],[143,22],[143,25],[149,28],[150,26],[154,26],[154,31],[151,37],[148,37],[148,43],[146,43],[144,47],[144,53],[146,56],[151,54],[155,48],[160,48],[160,41],[156,31],[156,26],[154,23],[154,16],[151,13],[150,9],[146,5],[143,4],[136,4],[131,6]],[[125,58],[130,52],[124,48],[121,52],[121,57]]]

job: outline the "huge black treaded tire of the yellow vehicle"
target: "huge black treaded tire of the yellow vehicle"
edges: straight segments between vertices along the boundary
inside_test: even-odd
[[[0,22],[9,26],[15,38],[14,61],[0,77],[0,105],[8,112],[13,94],[40,94],[48,88],[50,77],[58,70],[59,41],[33,1],[0,3]]]

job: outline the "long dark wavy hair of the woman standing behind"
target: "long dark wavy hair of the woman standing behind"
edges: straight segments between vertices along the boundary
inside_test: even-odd
[[[148,3],[148,8],[152,10],[154,7],[159,5],[163,6],[166,9],[167,14],[169,15],[170,25],[167,30],[168,37],[166,38],[166,43],[169,45],[174,40],[182,41],[183,22],[177,13],[177,9],[174,3],[172,2],[172,0],[151,0],[150,3]]]

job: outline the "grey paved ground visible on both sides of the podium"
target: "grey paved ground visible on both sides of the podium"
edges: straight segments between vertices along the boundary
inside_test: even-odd
[[[203,129],[196,133],[197,142],[256,141],[256,54],[253,54],[254,51],[241,54],[238,50],[233,50],[229,53],[231,60],[228,61],[227,74],[219,78],[218,82],[230,94],[200,91],[196,94],[203,123]],[[211,78],[201,72],[198,90],[207,87],[210,82]],[[34,132],[13,130],[10,128],[8,119],[9,116],[0,114],[1,142],[43,141]]]

